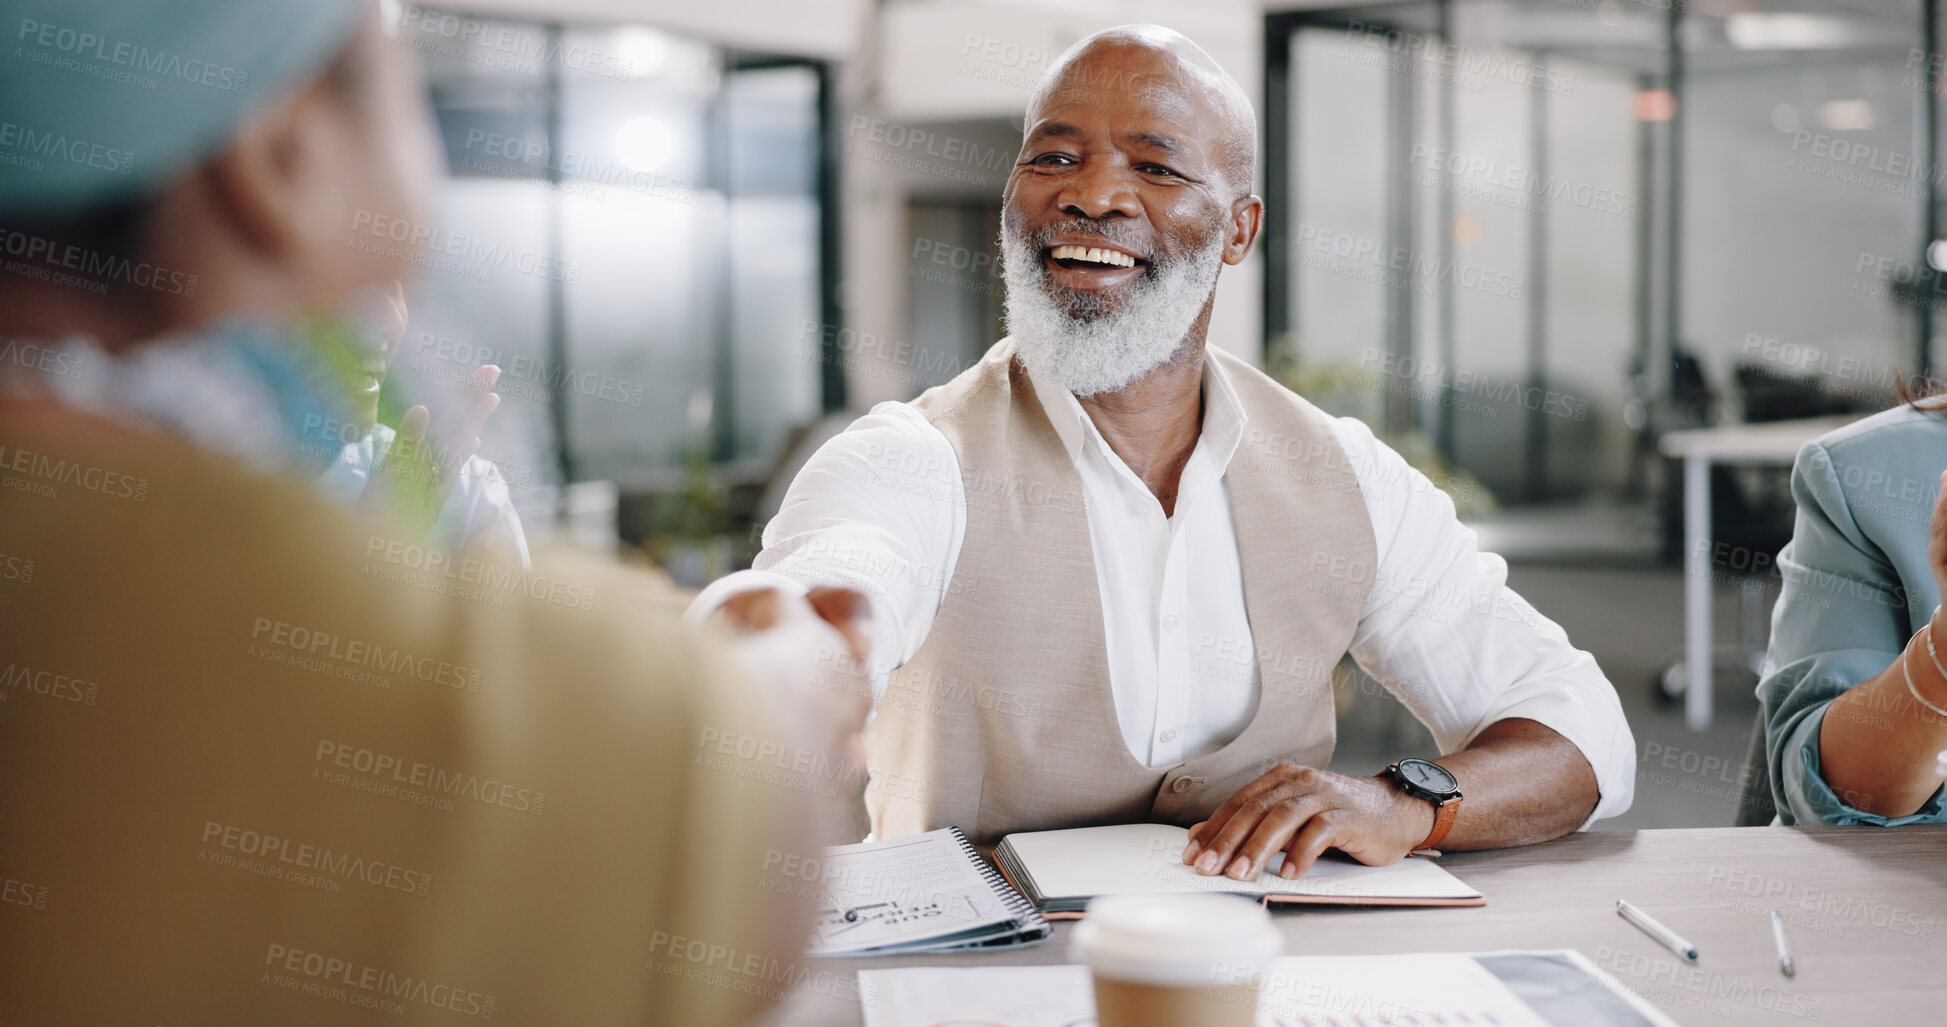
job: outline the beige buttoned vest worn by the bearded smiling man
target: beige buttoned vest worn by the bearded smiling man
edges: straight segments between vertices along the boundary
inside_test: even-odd
[[[968,522],[933,629],[866,733],[880,838],[1194,824],[1281,760],[1332,758],[1332,668],[1371,590],[1373,522],[1330,419],[1211,353],[1248,417],[1225,483],[1262,686],[1252,721],[1195,760],[1149,768],[1129,754],[1081,477],[1003,339],[913,401],[960,458]],[[1199,641],[1192,659],[1231,655]]]

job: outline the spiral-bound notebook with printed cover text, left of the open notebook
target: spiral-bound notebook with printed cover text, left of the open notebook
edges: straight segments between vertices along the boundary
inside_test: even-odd
[[[987,949],[1053,932],[960,828],[829,848],[816,881],[808,955]]]

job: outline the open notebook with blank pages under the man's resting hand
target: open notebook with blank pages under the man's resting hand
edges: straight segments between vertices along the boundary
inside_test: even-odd
[[[995,859],[1009,881],[1042,912],[1075,914],[1096,894],[1215,891],[1264,896],[1269,902],[1347,906],[1484,906],[1488,900],[1431,859],[1400,859],[1386,867],[1328,854],[1297,881],[1277,877],[1271,857],[1256,881],[1201,877],[1184,865],[1190,832],[1168,824],[1038,830],[1009,834]]]

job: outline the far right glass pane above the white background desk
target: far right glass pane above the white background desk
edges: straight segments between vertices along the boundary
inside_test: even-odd
[[[1678,341],[1713,382],[1746,366],[1891,405],[1892,372],[1924,370],[1916,302],[1939,292],[1881,275],[1926,267],[1920,27],[1918,0],[1684,21]]]

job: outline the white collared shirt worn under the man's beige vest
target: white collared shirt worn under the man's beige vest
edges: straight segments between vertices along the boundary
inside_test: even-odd
[[[1036,398],[1081,477],[1129,752],[1168,766],[1223,748],[1250,723],[1260,690],[1225,485],[1246,431],[1231,380],[1205,357],[1203,427],[1172,516],[1075,396],[1036,382]],[[1377,548],[1377,577],[1375,567],[1324,569],[1338,585],[1371,589],[1351,657],[1433,731],[1443,754],[1495,721],[1540,721],[1595,768],[1602,801],[1591,820],[1628,809],[1635,742],[1595,659],[1507,589],[1507,563],[1476,548],[1447,493],[1363,423],[1340,417],[1334,427]],[[765,524],[753,569],[711,583],[691,616],[767,585],[859,589],[872,598],[872,682],[884,694],[886,674],[927,639],[964,538],[952,444],[911,405],[880,403],[812,456]]]

